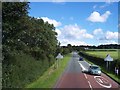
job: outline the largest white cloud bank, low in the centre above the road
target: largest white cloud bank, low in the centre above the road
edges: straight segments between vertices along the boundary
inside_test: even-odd
[[[77,24],[65,25],[62,28],[56,29],[58,40],[62,46],[67,44],[72,45],[89,45],[84,42],[85,39],[92,39],[93,36],[87,33],[86,29],[81,29]]]

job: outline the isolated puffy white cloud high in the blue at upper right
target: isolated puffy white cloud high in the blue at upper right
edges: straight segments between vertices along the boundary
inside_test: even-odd
[[[110,11],[106,11],[104,14],[100,15],[99,12],[94,11],[91,15],[87,18],[88,21],[91,22],[106,22],[109,15],[111,14]]]

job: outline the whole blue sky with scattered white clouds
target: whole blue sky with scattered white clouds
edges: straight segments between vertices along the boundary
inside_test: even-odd
[[[31,2],[29,16],[55,26],[61,46],[118,43],[117,2]]]

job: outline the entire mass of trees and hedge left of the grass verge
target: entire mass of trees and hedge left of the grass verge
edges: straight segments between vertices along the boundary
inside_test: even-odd
[[[29,3],[2,3],[3,88],[21,88],[55,61],[53,24],[28,16]]]

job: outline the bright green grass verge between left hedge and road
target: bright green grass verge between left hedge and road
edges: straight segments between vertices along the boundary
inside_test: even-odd
[[[33,83],[27,85],[26,88],[53,88],[56,81],[65,70],[70,58],[71,54],[65,55],[64,58],[59,61],[58,67],[58,62],[56,61],[55,64],[53,64],[42,76]]]

